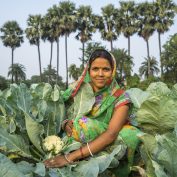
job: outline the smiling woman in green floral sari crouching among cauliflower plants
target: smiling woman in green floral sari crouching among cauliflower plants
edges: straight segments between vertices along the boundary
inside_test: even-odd
[[[46,160],[46,167],[59,168],[76,162],[77,171],[81,159],[87,158],[88,164],[89,160],[95,159],[95,165],[99,168],[102,162],[98,159],[105,158],[108,164],[104,166],[104,170],[94,173],[96,177],[111,165],[114,158],[117,162],[114,165],[117,166],[120,158],[126,155],[129,145],[122,139],[125,138],[124,132],[127,134],[126,130],[129,130],[131,136],[128,136],[135,144],[129,158],[129,167],[132,165],[132,157],[139,142],[136,138],[139,130],[132,126],[124,126],[128,121],[131,100],[117,84],[115,71],[116,63],[111,53],[103,49],[97,49],[92,53],[80,79],[63,94],[66,104],[71,101],[73,104],[68,108],[68,119],[63,121],[62,128],[70,142],[81,143],[80,148]],[[75,106],[78,104],[78,97],[82,97],[82,102],[80,100],[79,106]],[[73,109],[74,113],[71,114]]]

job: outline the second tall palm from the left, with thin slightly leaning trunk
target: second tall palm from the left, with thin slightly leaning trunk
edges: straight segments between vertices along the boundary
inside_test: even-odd
[[[31,45],[36,45],[38,49],[38,57],[39,57],[39,72],[40,78],[42,81],[42,69],[41,69],[41,54],[40,54],[40,39],[42,35],[42,17],[41,15],[29,15],[27,19],[28,27],[25,30],[26,37],[29,40]]]

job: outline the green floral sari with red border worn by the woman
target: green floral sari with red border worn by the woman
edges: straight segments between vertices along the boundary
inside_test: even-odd
[[[67,117],[73,120],[72,136],[70,137],[71,142],[78,141],[81,144],[85,144],[94,140],[107,129],[115,109],[126,104],[131,105],[129,95],[124,90],[120,89],[115,80],[116,63],[115,60],[113,60],[113,62],[112,78],[99,92],[93,92],[89,83],[89,66],[87,65],[79,80],[71,84],[69,89],[63,93],[64,101],[66,104],[70,105],[67,109]],[[89,92],[88,94],[87,91]],[[81,106],[86,105],[83,110],[78,106],[78,102],[81,98],[83,98]],[[119,132],[117,140],[104,150],[111,154],[117,144],[121,144],[121,153],[123,152],[123,154],[125,154],[127,152],[128,155],[127,174],[133,163],[134,152],[139,143],[136,136],[138,132],[139,130],[135,127],[130,125],[124,126]],[[96,156],[99,156],[99,154],[101,154],[101,152]],[[118,156],[117,153],[117,157]],[[121,157],[122,155],[120,155],[119,159]]]

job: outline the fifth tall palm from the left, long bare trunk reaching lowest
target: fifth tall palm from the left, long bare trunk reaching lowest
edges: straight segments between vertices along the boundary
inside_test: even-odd
[[[62,1],[59,3],[61,11],[61,29],[62,35],[65,36],[65,55],[66,55],[66,88],[68,88],[68,53],[67,38],[70,33],[76,30],[75,4],[70,1]]]

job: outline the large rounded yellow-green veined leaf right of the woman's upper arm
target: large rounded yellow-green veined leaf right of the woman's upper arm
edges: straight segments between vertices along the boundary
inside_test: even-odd
[[[177,101],[170,97],[148,98],[137,112],[140,128],[150,134],[172,131],[177,122]]]

